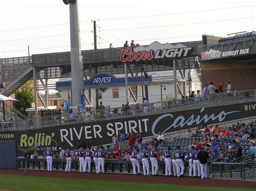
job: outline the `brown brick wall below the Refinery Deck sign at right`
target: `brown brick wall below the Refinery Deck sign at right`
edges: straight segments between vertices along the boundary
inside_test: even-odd
[[[223,82],[225,89],[226,82],[230,81],[232,91],[256,89],[256,62],[201,63],[201,75],[203,87],[212,81],[215,86]]]

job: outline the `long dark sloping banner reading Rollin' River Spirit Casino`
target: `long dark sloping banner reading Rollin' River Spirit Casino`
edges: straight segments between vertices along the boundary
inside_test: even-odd
[[[218,124],[241,118],[255,116],[256,102],[233,104],[216,107],[198,108],[195,110],[178,111],[151,115],[131,115],[128,118],[84,122],[43,129],[3,132],[0,141],[17,140],[18,155],[23,151],[40,154],[49,146],[57,151],[58,147],[77,147],[77,141],[82,144],[103,145],[112,142],[113,134],[122,131],[125,134],[142,133],[149,137],[163,133],[175,132],[181,129],[193,128],[198,125]]]

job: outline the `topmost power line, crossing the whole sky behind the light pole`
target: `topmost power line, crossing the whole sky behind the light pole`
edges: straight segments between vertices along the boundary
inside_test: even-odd
[[[160,14],[160,15],[145,15],[145,16],[134,16],[134,17],[116,17],[116,18],[101,18],[101,19],[87,19],[82,22],[89,22],[92,20],[116,20],[116,19],[131,19],[131,18],[145,18],[145,17],[159,17],[159,16],[168,16],[168,15],[181,15],[181,14],[186,14],[186,13],[197,13],[197,12],[207,12],[207,11],[218,11],[218,10],[227,10],[227,9],[238,9],[238,8],[247,8],[250,6],[255,6],[255,5],[245,5],[245,6],[234,6],[231,8],[220,8],[220,9],[207,9],[207,10],[198,10],[198,11],[186,11],[186,12],[176,12],[176,13],[166,13],[166,14]],[[52,24],[52,25],[43,25],[43,26],[33,26],[29,28],[20,28],[20,29],[10,29],[10,30],[2,30],[0,32],[9,32],[9,31],[18,31],[18,30],[27,30],[27,29],[39,29],[39,28],[46,28],[50,26],[59,26],[59,25],[66,25],[69,23],[59,23],[59,24]]]

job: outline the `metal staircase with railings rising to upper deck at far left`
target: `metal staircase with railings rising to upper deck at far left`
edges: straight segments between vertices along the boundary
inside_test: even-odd
[[[5,69],[3,69],[3,71],[9,71],[9,73],[3,80],[5,85],[4,89],[0,90],[0,93],[5,96],[10,96],[33,77],[33,67],[31,57],[28,57],[23,63],[6,62],[5,64]],[[10,67],[10,65],[11,69],[8,70],[7,67]]]

